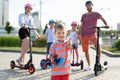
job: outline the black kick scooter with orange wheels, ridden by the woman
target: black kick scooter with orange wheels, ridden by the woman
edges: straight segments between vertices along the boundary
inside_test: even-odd
[[[35,28],[28,28],[28,30],[29,30],[30,59],[28,60],[28,62],[25,64],[24,67],[15,64],[15,61],[12,60],[10,62],[10,68],[14,69],[16,67],[16,68],[20,68],[20,69],[28,69],[29,73],[33,74],[35,72],[35,67],[32,63],[31,30],[36,30],[36,29]]]

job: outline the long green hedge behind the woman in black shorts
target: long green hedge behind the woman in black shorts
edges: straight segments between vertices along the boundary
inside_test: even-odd
[[[34,47],[45,47],[47,39],[43,38],[41,40],[34,40]],[[18,36],[0,36],[0,46],[1,47],[20,47],[21,40]]]

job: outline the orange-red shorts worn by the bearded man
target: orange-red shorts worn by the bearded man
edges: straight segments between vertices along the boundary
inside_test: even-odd
[[[89,51],[89,42],[92,42],[94,46],[97,44],[97,36],[81,36],[83,52],[88,53]]]

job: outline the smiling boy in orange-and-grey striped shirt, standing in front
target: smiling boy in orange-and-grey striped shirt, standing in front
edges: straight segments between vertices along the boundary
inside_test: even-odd
[[[54,42],[50,47],[50,56],[51,62],[54,59],[54,55],[57,55],[57,58],[64,58],[63,63],[59,66],[53,64],[54,67],[51,69],[51,80],[69,80],[70,75],[70,57],[72,44],[66,39],[66,30],[65,25],[57,24],[55,26],[55,36],[57,41]]]

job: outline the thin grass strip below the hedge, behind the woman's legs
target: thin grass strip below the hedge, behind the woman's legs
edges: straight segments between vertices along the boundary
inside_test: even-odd
[[[21,47],[0,47],[4,50],[21,50]],[[46,47],[32,47],[32,51],[46,52]]]

